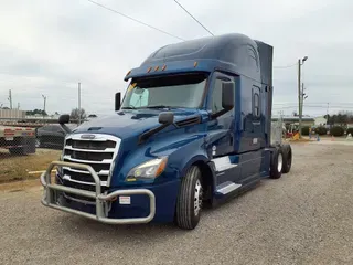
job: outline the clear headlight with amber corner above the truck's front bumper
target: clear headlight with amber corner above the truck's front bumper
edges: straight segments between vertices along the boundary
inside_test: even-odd
[[[141,163],[129,171],[126,180],[135,181],[137,179],[154,179],[164,171],[167,161],[168,158],[162,157]]]

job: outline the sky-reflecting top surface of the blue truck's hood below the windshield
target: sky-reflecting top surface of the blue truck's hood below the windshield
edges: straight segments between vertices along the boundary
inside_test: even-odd
[[[174,113],[175,121],[188,119],[199,114],[195,109],[173,109],[172,112]],[[108,134],[122,139],[130,138],[159,126],[158,116],[160,113],[160,109],[120,110],[114,115],[86,121],[73,130],[73,134]]]

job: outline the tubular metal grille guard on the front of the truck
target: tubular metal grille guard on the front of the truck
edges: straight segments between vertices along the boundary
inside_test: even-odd
[[[71,167],[76,169],[83,169],[89,171],[92,178],[95,181],[96,191],[86,191],[75,188],[65,187],[62,184],[52,184],[51,180],[51,171],[55,166],[62,167]],[[74,213],[84,218],[88,218],[92,220],[99,221],[101,223],[107,224],[139,224],[139,223],[149,223],[156,214],[156,197],[154,193],[148,189],[130,189],[130,190],[117,190],[113,191],[111,193],[104,194],[101,193],[100,188],[100,179],[94,169],[88,165],[82,163],[72,163],[72,162],[64,162],[64,161],[53,161],[49,166],[45,172],[41,176],[41,182],[44,187],[44,194],[42,199],[42,204],[49,208],[53,208],[56,210],[61,210],[68,213]],[[95,206],[96,206],[96,214],[83,212],[79,210],[71,209],[65,205],[62,205],[58,201],[60,192],[76,194],[89,199],[95,199]],[[115,201],[119,195],[135,195],[135,194],[145,194],[149,197],[150,203],[150,211],[148,216],[146,218],[124,218],[124,219],[113,219],[108,218],[109,204],[111,201]]]

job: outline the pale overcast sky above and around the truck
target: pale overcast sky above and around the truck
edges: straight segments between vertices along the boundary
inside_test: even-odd
[[[173,0],[95,0],[184,40],[207,36]],[[274,114],[298,109],[299,59],[308,98],[303,114],[353,110],[352,0],[179,0],[213,34],[243,33],[269,43]],[[88,0],[0,0],[0,106],[88,114],[114,112],[126,73],[179,39]],[[329,106],[329,108],[328,108]]]

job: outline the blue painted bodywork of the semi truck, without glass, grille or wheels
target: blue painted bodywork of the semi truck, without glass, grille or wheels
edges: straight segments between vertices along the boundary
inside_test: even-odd
[[[157,200],[153,221],[171,222],[181,180],[194,163],[210,168],[211,200],[214,203],[224,198],[216,192],[216,187],[222,187],[226,181],[246,188],[260,178],[268,177],[270,151],[266,148],[270,147],[271,68],[272,47],[243,34],[203,38],[167,45],[153,52],[139,67],[131,70],[125,80],[131,80],[130,84],[133,84],[172,74],[204,73],[206,85],[200,106],[170,109],[174,113],[175,123],[200,117],[197,123],[181,127],[170,125],[139,142],[141,134],[160,126],[158,116],[165,109],[120,109],[110,116],[81,125],[74,134],[103,134],[120,138],[108,192],[149,189]],[[217,88],[223,81],[235,83],[235,106],[214,119],[210,115],[215,108],[212,103],[220,95]],[[124,100],[127,100],[128,92],[129,89]],[[168,163],[158,178],[126,181],[132,168],[164,156],[168,157]],[[216,172],[213,159],[217,157],[228,157],[233,167],[224,172]],[[109,216],[146,216],[149,211],[148,202],[145,195],[132,195],[131,205],[121,205],[115,201]],[[66,203],[82,211],[94,211],[92,206],[78,202]]]

